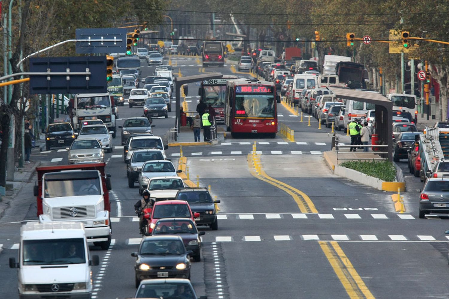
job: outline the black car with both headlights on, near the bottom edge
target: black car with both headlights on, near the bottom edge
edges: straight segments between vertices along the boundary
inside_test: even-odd
[[[150,278],[190,279],[191,251],[185,249],[182,238],[176,235],[158,235],[142,238],[136,257],[136,287]]]

